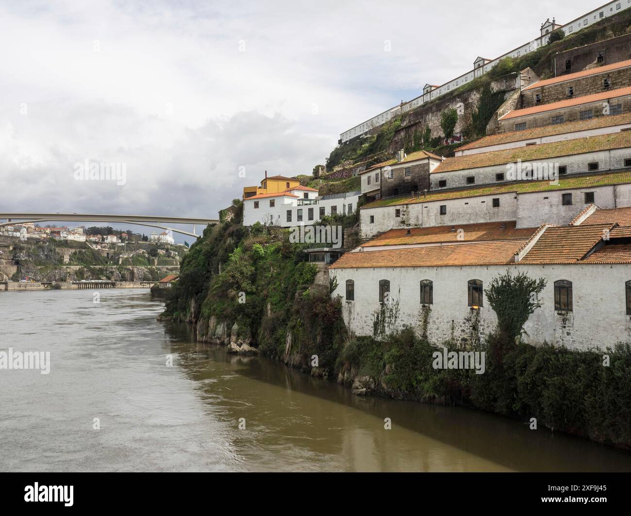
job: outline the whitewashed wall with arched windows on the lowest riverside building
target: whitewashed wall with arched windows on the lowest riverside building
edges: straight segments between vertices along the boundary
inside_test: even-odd
[[[453,339],[465,343],[483,338],[495,328],[497,316],[486,295],[479,311],[468,306],[469,280],[482,280],[487,289],[490,280],[504,273],[525,271],[532,278],[545,278],[540,295],[541,307],[524,327],[524,340],[587,350],[604,349],[618,341],[631,341],[631,317],[625,309],[625,282],[631,280],[628,265],[493,265],[469,267],[398,267],[330,269],[338,282],[333,296],[341,295],[346,326],[355,335],[372,335],[375,314],[379,314],[379,280],[390,281],[391,299],[399,301],[396,328],[411,326],[420,335],[423,328],[420,281],[432,280],[433,305],[428,316],[427,335],[439,345]],[[355,301],[345,301],[346,280],[355,281]],[[567,314],[554,310],[555,280],[572,282],[573,308]],[[477,321],[476,321],[477,319]],[[479,331],[475,331],[475,326]]]

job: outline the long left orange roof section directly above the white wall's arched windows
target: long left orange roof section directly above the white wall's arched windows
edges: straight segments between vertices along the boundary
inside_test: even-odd
[[[502,265],[511,263],[525,242],[526,239],[504,240],[346,253],[329,269]]]

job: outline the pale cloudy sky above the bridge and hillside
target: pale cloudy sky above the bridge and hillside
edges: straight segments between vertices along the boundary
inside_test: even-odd
[[[265,170],[310,173],[343,130],[599,5],[0,0],[0,211],[216,217]],[[76,180],[86,159],[126,184]]]

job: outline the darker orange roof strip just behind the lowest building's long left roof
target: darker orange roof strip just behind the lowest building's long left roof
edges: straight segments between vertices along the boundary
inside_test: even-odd
[[[481,224],[460,224],[456,226],[411,227],[391,229],[377,238],[362,244],[363,248],[405,244],[427,244],[457,241],[514,240],[529,238],[533,228],[516,229],[516,221],[483,222]],[[459,232],[462,229],[463,231]]]

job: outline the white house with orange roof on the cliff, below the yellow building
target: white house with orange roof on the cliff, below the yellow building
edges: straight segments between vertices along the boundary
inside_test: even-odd
[[[243,200],[243,225],[256,222],[281,227],[310,225],[324,215],[345,215],[357,209],[360,192],[318,196],[315,188],[296,186],[280,193],[259,193]]]

